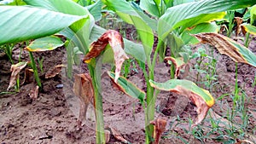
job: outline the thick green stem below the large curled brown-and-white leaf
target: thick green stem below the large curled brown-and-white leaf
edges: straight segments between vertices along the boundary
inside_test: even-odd
[[[94,89],[95,100],[95,112],[96,112],[96,143],[103,144],[105,141],[104,134],[104,119],[103,119],[103,107],[102,107],[102,95],[101,95],[101,82],[98,82],[96,70],[94,66],[88,66],[90,71],[90,77],[92,78],[92,85]]]

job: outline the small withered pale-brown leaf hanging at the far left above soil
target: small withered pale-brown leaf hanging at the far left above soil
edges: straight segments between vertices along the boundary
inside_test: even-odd
[[[19,73],[20,71],[26,67],[27,62],[19,62],[15,65],[12,65],[10,68],[10,72],[12,72],[10,80],[9,80],[9,86],[7,90],[11,89],[12,87],[15,86],[16,80],[19,78]]]

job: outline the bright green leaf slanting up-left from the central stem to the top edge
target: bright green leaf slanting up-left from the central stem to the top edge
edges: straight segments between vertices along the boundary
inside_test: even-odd
[[[133,9],[130,3],[125,0],[119,0],[116,3],[114,0],[104,0],[109,9],[112,9],[119,15],[119,17],[125,22],[134,25],[137,29],[137,33],[143,43],[143,48],[147,59],[150,59],[151,51],[154,43],[154,34],[150,26],[148,26],[147,21],[137,14],[137,11]]]

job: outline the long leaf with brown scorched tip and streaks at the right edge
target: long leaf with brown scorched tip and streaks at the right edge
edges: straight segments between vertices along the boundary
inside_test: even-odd
[[[200,33],[194,35],[201,43],[209,43],[216,47],[220,54],[228,55],[236,62],[256,67],[256,55],[245,46],[218,33]]]

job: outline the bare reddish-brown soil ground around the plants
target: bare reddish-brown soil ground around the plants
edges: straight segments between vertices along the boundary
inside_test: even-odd
[[[129,33],[129,32],[128,32]],[[15,63],[18,61],[20,45],[13,51]],[[255,37],[249,45],[249,49],[256,53]],[[65,48],[58,48],[52,51],[35,53],[34,57],[44,57],[44,72],[58,64],[67,64]],[[224,96],[221,101],[210,110],[210,113],[220,116],[221,121],[227,119],[229,107],[233,106],[231,94],[235,89],[236,63],[225,55],[219,55],[214,49],[214,55],[218,58],[216,72],[218,80],[210,89],[215,99]],[[22,61],[29,60],[28,54],[23,51]],[[193,66],[195,61],[191,62]],[[6,91],[9,85],[11,63],[6,55],[0,57],[0,92]],[[74,66],[73,73],[87,72],[85,64]],[[102,71],[110,70],[111,66],[105,65]],[[170,66],[157,64],[155,67],[155,81],[164,82],[170,78]],[[44,89],[38,94],[37,99],[32,99],[28,95],[32,84],[20,86],[20,92],[0,95],[0,141],[1,144],[11,143],[95,143],[95,115],[92,105],[90,105],[86,120],[81,127],[78,124],[79,98],[73,94],[73,79],[66,77],[65,68],[55,78],[42,78]],[[143,74],[132,71],[128,78],[141,89],[146,89]],[[41,72],[41,75],[44,75]],[[237,80],[239,88],[245,93],[245,107],[248,110],[247,130],[245,138],[255,141],[256,135],[256,87],[253,86],[256,69],[246,64],[238,64]],[[191,68],[186,79],[192,79],[195,83],[196,71]],[[20,73],[20,79],[24,78],[24,72]],[[60,87],[58,84],[63,84]],[[58,85],[58,86],[57,86]],[[206,88],[207,89],[207,88]],[[14,90],[14,89],[12,89]],[[102,96],[105,125],[119,130],[121,135],[131,143],[144,143],[144,112],[139,101],[126,96],[113,87],[108,77],[102,78]],[[162,136],[161,143],[222,143],[218,141],[218,134],[212,134],[212,139],[205,138],[201,141],[195,138],[193,132],[189,130],[189,118],[195,119],[195,105],[182,95],[175,95],[170,92],[160,92],[156,102],[155,118],[168,119],[166,131]],[[212,130],[209,114],[204,122],[195,130],[201,130],[206,135]],[[241,124],[240,117],[235,118],[234,123]],[[225,130],[223,130],[224,133]],[[223,138],[229,141],[229,138]],[[225,142],[224,141],[224,142]],[[121,143],[113,135],[108,143]]]

